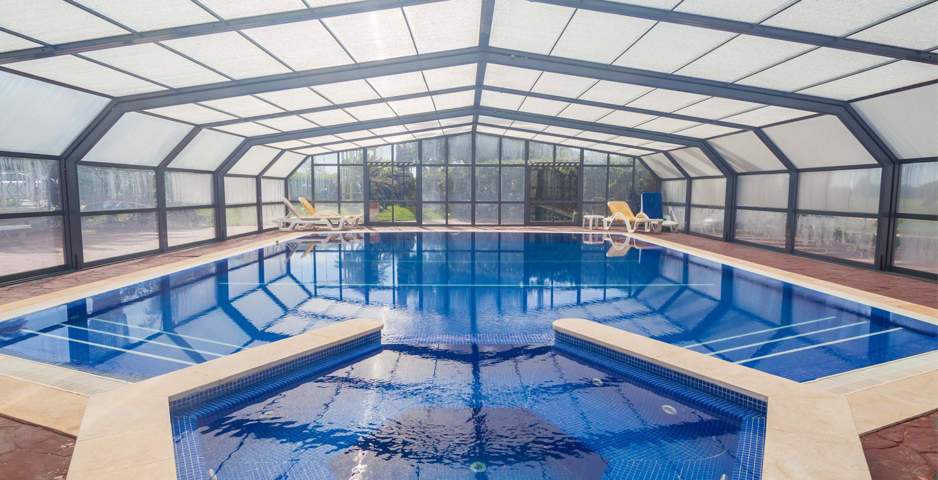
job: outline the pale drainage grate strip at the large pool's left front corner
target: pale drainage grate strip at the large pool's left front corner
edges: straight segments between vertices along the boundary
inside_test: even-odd
[[[2,353],[0,353],[0,375],[51,386],[85,397],[128,384],[120,380],[100,377],[69,368],[40,364]]]

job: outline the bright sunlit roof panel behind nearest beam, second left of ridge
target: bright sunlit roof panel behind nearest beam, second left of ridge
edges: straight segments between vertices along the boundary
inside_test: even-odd
[[[356,62],[415,55],[401,8],[323,19]]]

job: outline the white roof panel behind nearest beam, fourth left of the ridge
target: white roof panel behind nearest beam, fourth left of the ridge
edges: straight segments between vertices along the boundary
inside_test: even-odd
[[[237,80],[291,72],[237,32],[175,38],[161,43]]]

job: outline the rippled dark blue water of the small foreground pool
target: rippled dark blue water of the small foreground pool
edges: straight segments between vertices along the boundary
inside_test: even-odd
[[[176,413],[180,477],[760,477],[764,413],[566,343],[375,342],[349,356]]]

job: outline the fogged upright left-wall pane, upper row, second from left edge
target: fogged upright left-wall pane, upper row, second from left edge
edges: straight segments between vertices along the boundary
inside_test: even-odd
[[[154,170],[78,166],[78,197],[83,212],[157,206]]]

